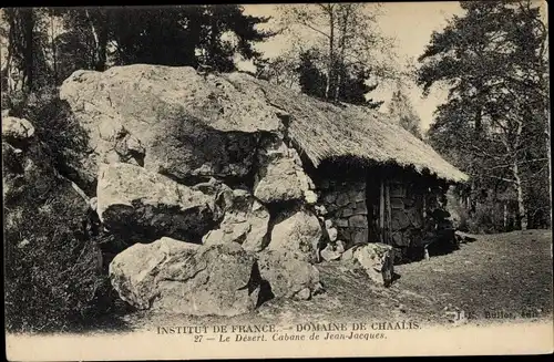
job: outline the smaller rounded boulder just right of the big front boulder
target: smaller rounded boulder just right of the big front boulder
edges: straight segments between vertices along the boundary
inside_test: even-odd
[[[309,299],[322,289],[319,270],[309,262],[280,251],[263,251],[257,258],[260,276],[275,298]]]

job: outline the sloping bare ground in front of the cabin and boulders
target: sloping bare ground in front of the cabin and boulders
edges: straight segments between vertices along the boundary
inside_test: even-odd
[[[326,292],[310,301],[271,300],[235,318],[134,312],[132,330],[157,325],[339,321],[417,321],[423,325],[532,321],[552,318],[552,232],[514,231],[475,236],[459,250],[396,266],[390,288],[340,262],[318,265]],[[459,312],[455,312],[459,311]],[[463,311],[463,313],[461,313]],[[461,317],[459,321],[456,317]]]

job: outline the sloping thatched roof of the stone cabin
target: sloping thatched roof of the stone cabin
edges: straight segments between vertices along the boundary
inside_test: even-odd
[[[254,82],[271,105],[290,115],[289,136],[316,167],[325,159],[353,157],[413,167],[450,182],[468,179],[431,146],[382,113],[334,105],[265,81]]]

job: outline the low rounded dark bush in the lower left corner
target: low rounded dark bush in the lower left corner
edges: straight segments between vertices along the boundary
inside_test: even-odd
[[[9,331],[68,329],[84,322],[95,307],[92,301],[104,282],[102,256],[94,238],[83,229],[85,215],[68,201],[54,192],[40,206],[42,210],[25,197],[7,213]]]

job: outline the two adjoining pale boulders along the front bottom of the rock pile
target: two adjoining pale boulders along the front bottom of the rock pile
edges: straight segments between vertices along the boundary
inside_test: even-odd
[[[236,242],[201,246],[171,238],[135,244],[117,255],[110,276],[138,309],[236,316],[271,297],[309,299],[318,270],[281,252],[254,255]]]

